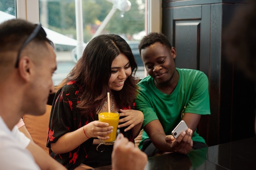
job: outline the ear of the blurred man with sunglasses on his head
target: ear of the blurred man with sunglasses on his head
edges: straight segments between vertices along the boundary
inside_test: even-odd
[[[23,78],[25,81],[31,80],[31,73],[32,73],[32,61],[29,57],[23,56],[20,58],[20,61],[18,63],[18,69],[20,72],[21,78]]]

